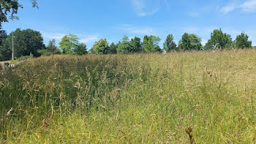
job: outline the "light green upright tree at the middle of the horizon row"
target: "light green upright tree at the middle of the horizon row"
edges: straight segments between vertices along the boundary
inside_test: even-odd
[[[161,39],[154,35],[151,36],[144,36],[143,39],[143,51],[146,53],[155,53],[155,52],[162,52],[161,48],[159,48],[159,42]]]

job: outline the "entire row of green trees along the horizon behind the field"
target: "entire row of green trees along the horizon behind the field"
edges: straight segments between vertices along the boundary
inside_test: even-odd
[[[12,35],[15,39],[15,57],[20,56],[49,56],[52,54],[71,54],[83,55],[87,53],[93,54],[128,54],[128,53],[170,53],[172,51],[186,50],[214,50],[214,49],[230,49],[230,48],[252,48],[252,41],[244,32],[236,37],[233,41],[230,34],[222,32],[222,29],[215,29],[211,33],[211,38],[205,46],[201,44],[201,39],[196,34],[184,33],[178,41],[178,45],[173,41],[173,34],[168,34],[163,48],[160,48],[161,39],[154,35],[146,35],[143,39],[140,37],[124,36],[121,41],[109,44],[107,39],[99,39],[94,42],[93,47],[88,51],[85,43],[80,43],[78,36],[68,34],[62,37],[59,46],[56,40],[52,39],[45,45],[43,43],[42,34],[32,29],[16,29],[9,35],[1,32],[0,34],[0,60],[10,60],[12,56]]]

